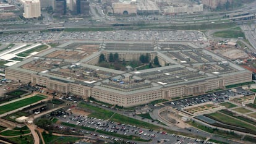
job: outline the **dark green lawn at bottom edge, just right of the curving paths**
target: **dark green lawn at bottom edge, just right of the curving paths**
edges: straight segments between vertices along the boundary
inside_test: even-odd
[[[82,138],[79,137],[58,137],[56,135],[49,135],[46,133],[42,133],[43,139],[45,143],[54,143],[54,144],[62,144],[62,143],[75,143],[77,140]]]

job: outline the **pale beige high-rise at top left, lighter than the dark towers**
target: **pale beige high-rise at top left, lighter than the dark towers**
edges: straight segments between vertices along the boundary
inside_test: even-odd
[[[23,17],[25,17],[25,19],[36,18],[41,16],[41,7],[39,0],[25,0],[23,4]]]

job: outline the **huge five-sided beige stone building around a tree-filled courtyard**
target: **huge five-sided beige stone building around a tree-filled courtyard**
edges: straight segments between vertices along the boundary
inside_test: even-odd
[[[116,46],[111,44],[107,44],[106,48]],[[170,46],[169,43],[160,45]],[[70,50],[69,45],[63,48],[51,48],[36,59],[30,57],[7,67],[6,78],[18,82],[31,82],[61,93],[72,93],[83,99],[92,97],[98,101],[124,107],[177,96],[199,95],[227,85],[252,81],[252,72],[233,62],[225,61],[223,57],[206,49],[195,48],[192,44],[186,44],[188,48],[186,50],[184,50],[185,46],[176,43],[173,46],[176,49],[169,50],[168,53],[164,51],[96,51],[75,63],[56,56],[51,59],[48,56],[54,52],[56,52],[54,54],[61,53],[60,49],[67,52],[67,48]],[[140,45],[134,44],[132,47],[139,48]],[[179,47],[182,48],[178,50]],[[139,60],[140,56],[148,54],[150,62],[158,57],[161,67],[121,71],[95,66],[100,59],[100,54],[109,57],[110,53],[118,53],[122,62]],[[178,59],[185,60],[188,56],[189,61],[179,62]],[[49,67],[49,61],[56,62]],[[61,62],[63,66],[56,68],[56,64]]]

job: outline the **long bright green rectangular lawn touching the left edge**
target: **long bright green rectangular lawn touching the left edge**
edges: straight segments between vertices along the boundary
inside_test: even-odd
[[[23,106],[27,106],[28,104],[35,103],[37,101],[43,100],[46,97],[43,97],[41,95],[36,95],[30,98],[26,98],[20,101],[15,101],[14,103],[6,104],[4,106],[0,106],[0,114],[4,114],[6,112],[12,111],[14,109],[21,108]]]

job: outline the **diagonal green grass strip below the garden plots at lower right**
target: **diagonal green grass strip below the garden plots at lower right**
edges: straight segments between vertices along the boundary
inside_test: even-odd
[[[256,126],[247,124],[243,121],[239,121],[238,119],[234,119],[233,117],[226,116],[221,112],[215,112],[212,114],[208,114],[211,118],[215,119],[216,121],[223,122],[224,124],[230,124],[237,127],[244,127],[252,131],[256,131]]]

